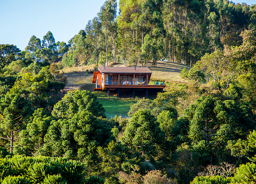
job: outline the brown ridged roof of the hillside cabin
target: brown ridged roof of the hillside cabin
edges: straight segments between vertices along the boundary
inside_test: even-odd
[[[152,74],[147,67],[98,67],[101,73]]]

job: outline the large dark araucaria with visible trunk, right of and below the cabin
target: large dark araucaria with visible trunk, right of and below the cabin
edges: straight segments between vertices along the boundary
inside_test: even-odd
[[[230,124],[233,118],[225,111],[223,104],[218,99],[212,96],[202,96],[185,111],[190,119],[188,137],[196,142],[205,138],[207,143],[210,143],[218,134],[227,139],[228,136],[231,136]],[[222,133],[225,134],[221,135]]]

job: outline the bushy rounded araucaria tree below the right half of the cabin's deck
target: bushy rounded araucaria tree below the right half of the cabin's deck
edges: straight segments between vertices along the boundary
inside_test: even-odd
[[[139,152],[142,156],[157,155],[165,144],[164,132],[149,110],[140,109],[134,113],[126,125],[121,143],[129,146],[132,152]]]

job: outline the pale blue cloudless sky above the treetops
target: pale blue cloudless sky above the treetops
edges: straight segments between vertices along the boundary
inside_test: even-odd
[[[255,4],[256,0],[233,0]],[[51,31],[55,41],[68,43],[97,16],[105,0],[0,0],[0,44],[25,50],[31,36],[43,39]],[[117,0],[119,2],[119,0]]]

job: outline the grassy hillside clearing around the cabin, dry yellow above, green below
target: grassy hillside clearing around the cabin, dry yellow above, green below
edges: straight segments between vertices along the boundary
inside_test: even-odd
[[[124,64],[122,64],[122,66],[123,65]],[[155,66],[149,66],[148,68],[153,72],[151,79],[165,80],[169,82],[187,82],[180,78],[180,72],[184,67],[188,70],[190,69],[187,65],[180,63],[157,61]],[[92,84],[93,68],[94,65],[84,66],[83,70],[81,67],[62,69],[67,76],[65,91],[67,92],[75,89],[89,90],[97,96],[99,102],[105,108],[108,118],[115,117],[115,115],[127,117],[127,113],[130,110],[130,106],[134,103],[134,100],[118,99],[116,96],[110,96],[110,99],[108,99],[106,92],[93,92],[93,89],[95,88],[95,84]]]

